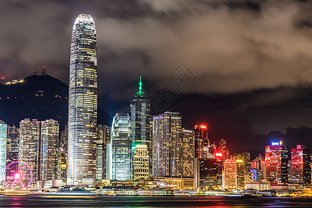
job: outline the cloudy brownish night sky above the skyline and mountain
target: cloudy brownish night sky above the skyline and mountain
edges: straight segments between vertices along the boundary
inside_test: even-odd
[[[213,141],[264,150],[268,141],[253,135],[312,127],[311,10],[311,1],[287,0],[3,0],[0,76],[24,78],[45,66],[68,84],[73,21],[89,13],[99,105],[108,114],[130,111],[142,76],[152,101],[170,89],[172,100],[156,108],[181,112],[186,128],[202,121]],[[192,75],[182,87],[173,78],[181,66]]]

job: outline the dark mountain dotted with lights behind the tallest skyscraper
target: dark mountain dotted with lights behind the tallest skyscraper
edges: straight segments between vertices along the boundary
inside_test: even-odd
[[[63,129],[68,119],[68,86],[49,75],[28,76],[24,83],[0,85],[0,119],[19,125],[21,119],[55,119]],[[98,123],[111,124],[98,107]]]

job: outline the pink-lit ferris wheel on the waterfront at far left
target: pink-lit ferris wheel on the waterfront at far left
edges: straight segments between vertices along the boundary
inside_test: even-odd
[[[33,181],[33,172],[24,162],[12,162],[6,166],[3,178],[8,189],[27,189]]]

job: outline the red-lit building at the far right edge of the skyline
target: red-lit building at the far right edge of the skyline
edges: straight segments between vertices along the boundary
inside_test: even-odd
[[[303,145],[291,149],[291,182],[311,184],[311,150]]]

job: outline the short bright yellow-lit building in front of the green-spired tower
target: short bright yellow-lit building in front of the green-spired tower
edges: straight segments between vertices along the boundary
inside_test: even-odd
[[[137,144],[133,155],[133,180],[146,180],[150,176],[148,147]]]

